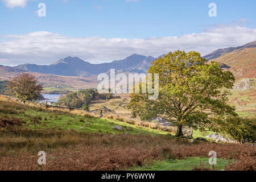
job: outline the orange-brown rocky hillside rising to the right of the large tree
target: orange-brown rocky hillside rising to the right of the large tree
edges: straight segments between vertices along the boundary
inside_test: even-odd
[[[227,53],[212,61],[228,65],[224,69],[236,77],[230,104],[235,105],[241,114],[256,115],[256,48]]]

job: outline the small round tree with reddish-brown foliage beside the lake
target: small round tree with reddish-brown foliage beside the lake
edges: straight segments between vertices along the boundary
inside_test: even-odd
[[[7,82],[7,92],[20,100],[37,100],[42,97],[42,85],[38,84],[35,76],[22,73]]]

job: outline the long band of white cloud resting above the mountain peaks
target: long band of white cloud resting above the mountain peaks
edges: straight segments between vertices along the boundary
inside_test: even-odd
[[[123,59],[133,53],[159,56],[177,49],[206,55],[218,48],[242,46],[256,40],[256,28],[216,27],[199,34],[148,39],[69,38],[52,32],[5,36],[0,42],[0,65],[51,64],[66,56],[91,63]]]

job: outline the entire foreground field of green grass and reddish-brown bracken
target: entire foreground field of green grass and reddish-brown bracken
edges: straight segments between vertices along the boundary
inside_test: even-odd
[[[115,125],[124,131],[113,130]],[[81,110],[46,109],[0,99],[0,170],[191,170],[200,160],[207,162],[212,150],[220,159],[217,169],[233,159],[239,163],[225,169],[255,170],[252,146],[194,144],[167,131],[98,118]],[[37,163],[39,151],[46,151],[45,166]]]

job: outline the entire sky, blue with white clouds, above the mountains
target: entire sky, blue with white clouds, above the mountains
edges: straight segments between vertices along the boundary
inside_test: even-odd
[[[0,0],[0,65],[67,56],[97,64],[177,49],[206,55],[256,40],[255,7],[255,0]]]

